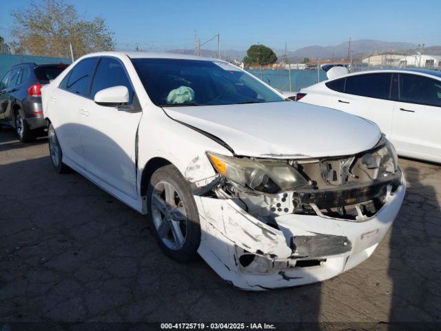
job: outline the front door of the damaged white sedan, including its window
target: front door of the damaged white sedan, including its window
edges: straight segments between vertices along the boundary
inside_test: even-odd
[[[100,106],[96,92],[126,86],[130,102],[126,106]],[[85,167],[95,177],[128,197],[136,199],[136,131],[141,120],[134,88],[123,63],[103,57],[96,68],[90,99],[81,116],[81,141]]]

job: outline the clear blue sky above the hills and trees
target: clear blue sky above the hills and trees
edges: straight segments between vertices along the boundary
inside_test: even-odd
[[[38,1],[38,0],[36,0]],[[223,49],[246,50],[252,43],[288,50],[328,46],[352,39],[441,45],[441,1],[178,1],[75,0],[81,17],[103,17],[119,48],[192,48],[220,33]],[[28,0],[3,1],[0,35],[7,40],[10,11]],[[332,4],[331,4],[332,3]],[[216,43],[207,43],[215,49]]]

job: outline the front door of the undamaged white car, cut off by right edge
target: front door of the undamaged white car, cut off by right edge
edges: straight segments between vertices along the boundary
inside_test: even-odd
[[[441,81],[399,74],[392,139],[402,152],[441,157]],[[409,156],[411,156],[409,154]]]

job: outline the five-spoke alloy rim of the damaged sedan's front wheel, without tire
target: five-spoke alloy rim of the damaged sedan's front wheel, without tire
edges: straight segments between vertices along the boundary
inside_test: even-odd
[[[171,183],[158,182],[152,194],[152,219],[163,243],[179,250],[187,234],[187,214],[180,194]]]

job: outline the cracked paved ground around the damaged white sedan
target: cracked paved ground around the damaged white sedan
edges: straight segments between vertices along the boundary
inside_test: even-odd
[[[322,283],[243,292],[202,260],[165,257],[145,217],[81,175],[56,174],[47,139],[5,129],[0,321],[440,322],[441,166],[400,166],[406,198],[370,259]]]

